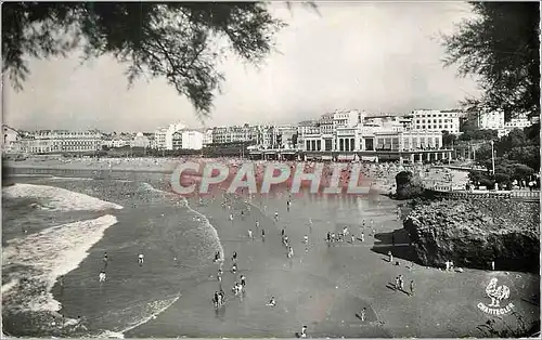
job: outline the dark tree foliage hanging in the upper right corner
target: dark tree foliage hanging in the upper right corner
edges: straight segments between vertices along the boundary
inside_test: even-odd
[[[502,109],[508,120],[520,113],[540,113],[540,41],[538,2],[474,2],[477,17],[443,37],[444,65],[460,75],[480,78],[481,97],[465,104]]]

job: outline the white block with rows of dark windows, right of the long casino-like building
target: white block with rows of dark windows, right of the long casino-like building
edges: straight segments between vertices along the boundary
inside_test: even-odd
[[[457,134],[460,116],[456,110],[417,109],[412,113],[412,130]]]

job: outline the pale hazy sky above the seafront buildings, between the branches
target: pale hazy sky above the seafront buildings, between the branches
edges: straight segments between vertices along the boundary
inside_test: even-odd
[[[255,68],[228,58],[211,117],[202,122],[190,102],[165,80],[128,89],[125,66],[109,56],[80,65],[77,55],[30,60],[21,92],[4,79],[3,122],[23,130],[152,132],[180,121],[193,128],[297,123],[335,109],[406,114],[457,107],[476,95],[472,78],[443,67],[440,34],[472,17],[462,2],[275,2],[288,26],[276,52]]]

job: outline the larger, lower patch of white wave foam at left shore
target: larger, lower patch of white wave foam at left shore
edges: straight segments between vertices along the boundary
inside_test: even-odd
[[[2,286],[4,306],[11,304],[21,310],[59,311],[61,304],[51,293],[57,277],[77,269],[87,258],[88,250],[115,223],[117,219],[107,214],[94,220],[52,226],[24,238],[9,240],[8,247],[3,248],[2,267],[29,267],[24,274],[20,271],[8,274],[10,283],[4,286],[11,286],[5,287],[5,293]],[[17,284],[12,284],[17,279]]]

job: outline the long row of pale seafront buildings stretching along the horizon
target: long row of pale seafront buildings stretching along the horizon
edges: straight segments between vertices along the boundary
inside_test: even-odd
[[[442,148],[442,131],[460,134],[460,110],[417,109],[404,116],[374,115],[360,110],[337,110],[296,126],[230,126],[190,129],[175,122],[154,132],[103,133],[91,131],[17,131],[3,126],[3,152],[48,154],[95,152],[102,148],[145,147],[160,151],[202,149],[206,145],[249,143],[259,151],[295,149],[307,153],[412,152]],[[506,134],[531,122],[519,116],[504,122],[500,112],[477,115],[479,129]],[[401,155],[416,158],[420,154]]]

